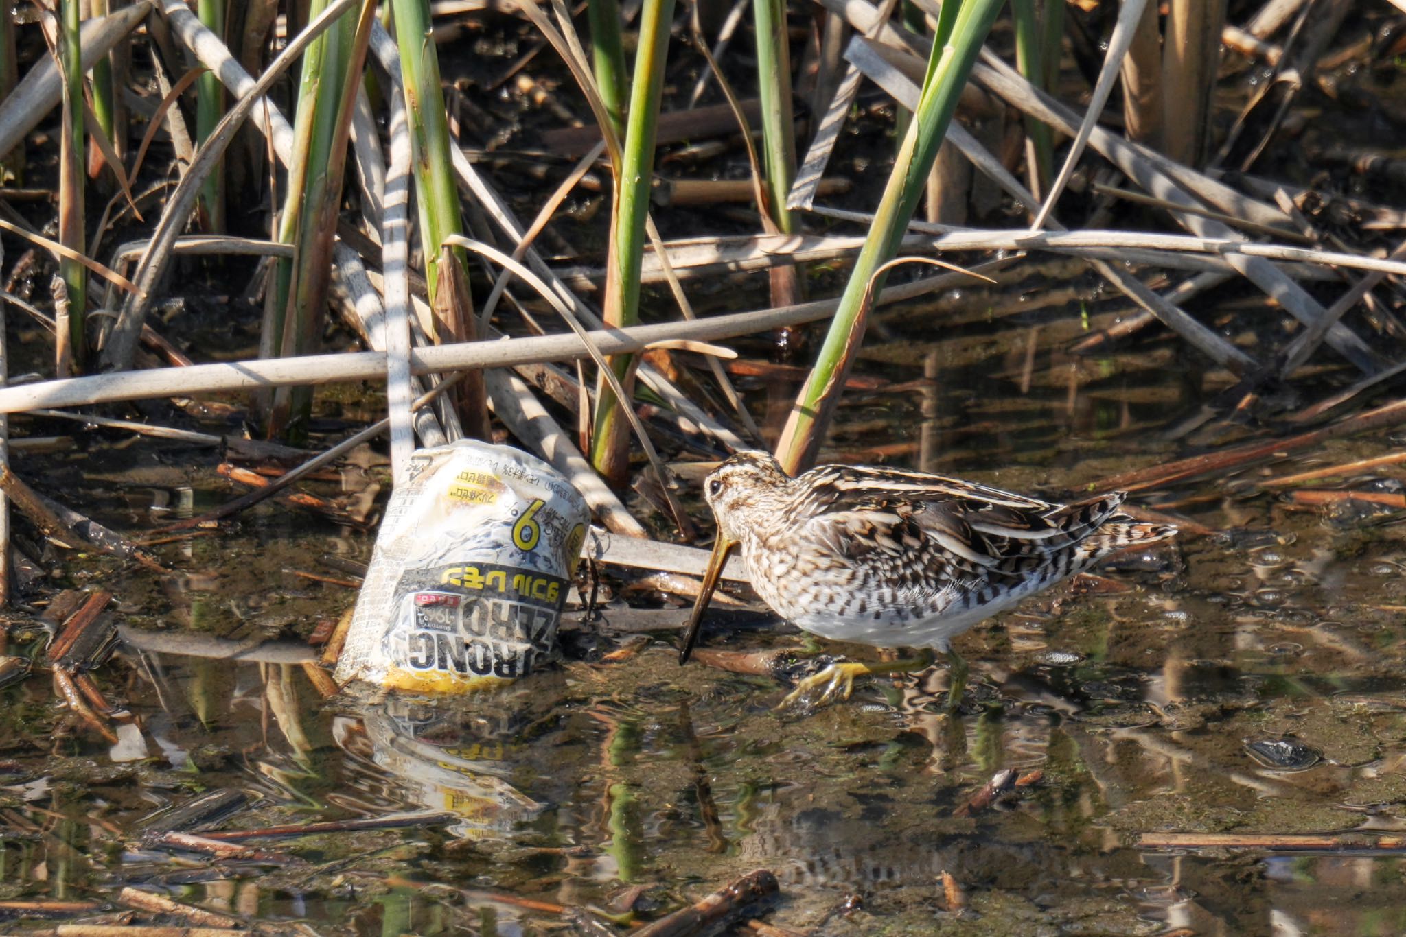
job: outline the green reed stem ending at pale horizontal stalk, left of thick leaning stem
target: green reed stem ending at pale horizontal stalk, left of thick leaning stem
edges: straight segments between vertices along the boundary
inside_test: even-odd
[[[756,80],[762,100],[762,143],[766,152],[766,191],[772,221],[783,233],[794,222],[786,208],[796,178],[796,115],[792,110],[790,41],[786,34],[786,1],[754,0],[756,28]]]

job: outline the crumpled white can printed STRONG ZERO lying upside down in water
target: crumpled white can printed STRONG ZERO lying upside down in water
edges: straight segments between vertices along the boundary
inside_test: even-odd
[[[336,679],[464,693],[557,650],[589,513],[538,458],[464,440],[419,450],[391,494]]]

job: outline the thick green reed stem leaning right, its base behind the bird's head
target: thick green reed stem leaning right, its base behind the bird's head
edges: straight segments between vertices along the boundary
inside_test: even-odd
[[[922,198],[924,185],[938,146],[956,110],[962,87],[966,84],[981,44],[1001,8],[1001,0],[965,0],[945,3],[934,35],[928,70],[912,122],[904,135],[894,160],[893,173],[884,187],[875,222],[869,228],[859,258],[831,320],[825,344],[801,388],[787,420],[778,458],[787,471],[796,472],[814,459],[821,437],[834,413],[839,389],[849,374],[849,365],[863,340],[866,292],[870,280],[873,291],[883,287],[879,268],[898,251],[904,230]]]

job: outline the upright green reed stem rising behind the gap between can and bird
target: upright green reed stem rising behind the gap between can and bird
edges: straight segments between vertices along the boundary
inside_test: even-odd
[[[644,0],[640,11],[640,49],[634,56],[634,81],[630,86],[624,152],[616,178],[614,212],[610,218],[605,320],[612,326],[633,326],[640,320],[644,221],[650,212],[655,125],[659,118],[672,21],[673,0]],[[628,393],[634,386],[631,355],[617,355],[607,362]],[[621,482],[628,462],[628,426],[619,413],[619,402],[610,388],[600,382],[596,393],[595,437],[591,441],[591,461],[596,471],[612,482]]]

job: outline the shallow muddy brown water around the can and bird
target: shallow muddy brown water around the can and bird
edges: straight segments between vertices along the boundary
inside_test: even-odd
[[[880,317],[863,369],[893,384],[851,393],[834,458],[1066,494],[1182,454],[1166,433],[1220,389],[1170,340],[1064,354],[1115,310],[1091,289],[983,305],[945,319],[942,341],[921,312]],[[749,389],[759,416],[790,392]],[[20,455],[17,471],[129,532],[232,492],[204,452],[120,434],[83,445],[101,458]],[[45,676],[0,690],[0,926],[55,926],[15,900],[89,903],[55,910],[63,920],[112,915],[134,885],[318,933],[555,933],[550,905],[636,898],[654,916],[768,868],[780,899],[766,920],[815,934],[1402,933],[1406,865],[1367,847],[1406,826],[1406,528],[1389,509],[1324,510],[1265,486],[1393,448],[1361,437],[1139,493],[1215,532],[976,627],[957,641],[972,684],[956,718],[942,667],[778,712],[780,683],[681,669],[672,629],[640,648],[619,603],[659,597],[610,576],[605,624],[571,628],[558,667],[503,694],[323,700],[295,642],[354,591],[290,570],[344,577],[319,558],[364,562],[373,534],[263,506],[229,532],[153,548],[176,577],[63,553],[53,584],[110,589],[124,624],[277,639],[287,657],[121,649],[96,674],[135,716],[117,745],[58,708]],[[1395,478],[1341,485],[1399,493],[1381,480]],[[706,648],[803,643],[779,622],[721,621]],[[15,638],[11,653],[35,646]],[[619,646],[637,653],[600,660]],[[983,806],[1007,770],[1021,782]],[[215,794],[194,819],[163,813]],[[404,812],[434,816],[257,839],[228,858],[159,840]],[[1346,840],[1357,851],[1302,854],[1142,839],[1353,830],[1372,834]]]

